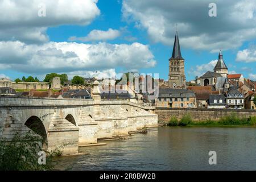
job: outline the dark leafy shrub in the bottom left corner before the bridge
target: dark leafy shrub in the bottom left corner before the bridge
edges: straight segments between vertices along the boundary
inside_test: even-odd
[[[57,148],[49,153],[42,148],[43,139],[35,134],[16,133],[13,139],[0,140],[0,171],[45,171],[52,170],[53,157],[60,154]],[[47,155],[46,163],[40,164],[39,152]]]

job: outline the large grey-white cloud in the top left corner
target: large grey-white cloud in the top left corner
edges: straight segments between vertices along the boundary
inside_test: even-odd
[[[87,25],[100,10],[98,0],[2,0],[0,1],[0,40],[26,43],[47,42],[48,27],[63,24]],[[46,17],[38,16],[39,5],[46,5]]]

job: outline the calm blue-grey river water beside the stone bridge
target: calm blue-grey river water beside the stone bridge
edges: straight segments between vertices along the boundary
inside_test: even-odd
[[[60,170],[256,170],[256,128],[158,127],[106,146],[80,148],[88,155],[60,157]],[[209,151],[217,164],[209,165]]]

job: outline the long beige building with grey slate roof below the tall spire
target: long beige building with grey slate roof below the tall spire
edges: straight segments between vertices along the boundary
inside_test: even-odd
[[[196,108],[196,94],[192,90],[159,88],[156,107]]]

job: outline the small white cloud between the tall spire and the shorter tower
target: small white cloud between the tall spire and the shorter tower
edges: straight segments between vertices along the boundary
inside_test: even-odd
[[[215,65],[217,64],[218,60],[212,60],[207,64],[200,64],[200,65],[196,65],[195,68],[191,68],[189,73],[192,76],[202,76],[204,73],[210,71],[213,72],[213,68],[215,67]]]

